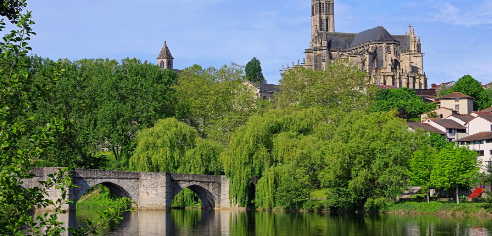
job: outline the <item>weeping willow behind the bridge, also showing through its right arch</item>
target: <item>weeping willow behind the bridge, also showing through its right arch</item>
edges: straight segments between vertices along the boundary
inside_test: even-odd
[[[154,127],[137,134],[137,148],[130,159],[134,171],[158,171],[218,175],[223,173],[219,159],[223,148],[202,139],[198,132],[175,118],[157,121]],[[173,199],[172,207],[191,207],[199,198],[184,189]]]

